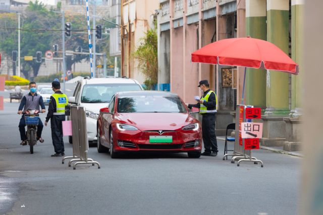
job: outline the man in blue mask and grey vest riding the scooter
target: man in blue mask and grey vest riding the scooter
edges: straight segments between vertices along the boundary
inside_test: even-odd
[[[44,113],[46,111],[45,105],[42,100],[42,97],[36,93],[37,88],[36,88],[35,82],[29,83],[29,90],[30,92],[26,94],[21,100],[21,103],[18,109],[18,114],[23,114],[27,110],[40,111],[39,106],[41,107],[41,112]],[[26,126],[26,122],[25,122],[25,116],[23,114],[19,122],[19,131],[20,131],[20,138],[21,138],[20,145],[23,145],[23,146],[28,144],[25,126]],[[38,126],[37,126],[37,140],[39,140],[40,142],[44,142],[44,140],[41,138],[41,132],[43,127],[44,126],[41,120],[39,119]]]

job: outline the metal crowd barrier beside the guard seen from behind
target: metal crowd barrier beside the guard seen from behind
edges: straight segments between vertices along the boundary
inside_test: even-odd
[[[93,159],[87,157],[89,150],[89,142],[87,138],[86,130],[86,115],[85,108],[78,106],[71,106],[71,119],[72,119],[72,141],[73,141],[73,156],[64,157],[62,164],[66,159],[72,159],[69,162],[71,167],[72,162],[76,162],[73,165],[73,169],[76,169],[78,164],[97,164],[97,168],[100,169],[100,164]]]

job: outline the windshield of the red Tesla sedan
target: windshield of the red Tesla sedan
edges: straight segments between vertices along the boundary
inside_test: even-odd
[[[119,113],[187,113],[183,102],[173,95],[134,95],[118,98]]]

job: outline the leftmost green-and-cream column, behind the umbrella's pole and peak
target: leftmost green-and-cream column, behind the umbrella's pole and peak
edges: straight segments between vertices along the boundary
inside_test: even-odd
[[[246,0],[246,35],[266,40],[266,0]],[[240,74],[243,80],[243,73]],[[266,71],[247,68],[245,104],[266,107]]]

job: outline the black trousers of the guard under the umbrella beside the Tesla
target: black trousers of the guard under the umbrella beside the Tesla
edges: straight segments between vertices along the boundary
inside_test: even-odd
[[[202,114],[202,136],[205,152],[218,152],[215,114]]]

